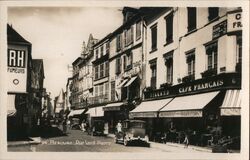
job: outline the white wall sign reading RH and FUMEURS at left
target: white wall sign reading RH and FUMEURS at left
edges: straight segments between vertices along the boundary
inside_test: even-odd
[[[27,57],[27,50],[8,49],[8,92],[27,92]]]

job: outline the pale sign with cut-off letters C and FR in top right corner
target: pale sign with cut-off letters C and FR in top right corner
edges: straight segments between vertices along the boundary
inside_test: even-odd
[[[231,12],[227,15],[227,32],[236,32],[242,30],[242,22],[241,22],[241,11]]]

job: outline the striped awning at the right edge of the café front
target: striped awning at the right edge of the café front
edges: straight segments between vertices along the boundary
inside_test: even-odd
[[[224,101],[220,108],[222,116],[240,116],[240,90],[227,90]]]

